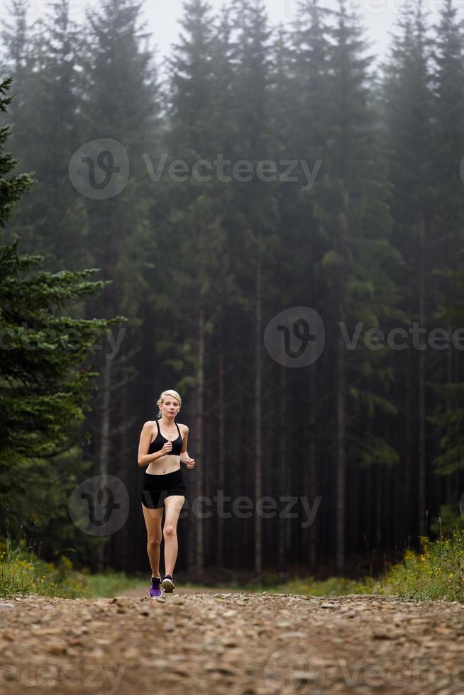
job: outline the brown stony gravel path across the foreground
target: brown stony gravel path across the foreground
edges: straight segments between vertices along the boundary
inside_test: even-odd
[[[1,599],[1,693],[464,693],[463,604],[126,593]]]

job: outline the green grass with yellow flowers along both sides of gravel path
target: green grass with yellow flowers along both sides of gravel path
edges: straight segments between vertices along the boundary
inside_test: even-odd
[[[141,586],[140,576],[125,572],[90,574],[89,569],[77,571],[65,555],[57,563],[44,562],[33,554],[21,539],[0,540],[0,597],[15,594],[40,594],[62,598],[96,598],[117,596],[126,589]],[[185,587],[199,589],[190,582]],[[380,577],[365,577],[355,581],[344,577],[329,577],[324,582],[314,577],[295,578],[278,584],[270,574],[263,584],[250,583],[217,587],[217,591],[241,589],[269,594],[309,594],[311,596],[344,596],[346,594],[383,594],[400,599],[460,601],[464,603],[464,531],[455,530],[441,540],[421,538],[421,552],[404,551],[402,562],[389,565]]]

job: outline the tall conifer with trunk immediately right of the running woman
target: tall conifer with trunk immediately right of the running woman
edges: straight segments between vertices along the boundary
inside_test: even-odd
[[[221,39],[213,38],[213,26],[209,4],[203,0],[184,3],[184,34],[170,60],[170,130],[165,139],[170,159],[182,160],[188,173],[183,182],[165,183],[172,211],[167,216],[168,233],[161,252],[167,261],[163,274],[170,296],[163,295],[162,300],[170,326],[175,323],[175,328],[169,336],[161,334],[158,347],[163,363],[173,365],[175,372],[184,371],[177,388],[195,389],[191,446],[197,452],[204,450],[206,355],[219,321],[217,296],[224,296],[227,285],[227,267],[225,273],[222,270],[227,262],[222,262],[225,235],[221,226],[221,201],[226,201],[226,195],[219,192],[220,184],[211,169],[226,146],[227,131],[221,130],[221,116],[226,113],[230,95],[227,82],[221,84],[220,80],[226,77],[229,65],[226,56],[214,62]],[[226,45],[227,35],[222,35],[222,40]],[[211,167],[210,172],[198,169],[194,173],[201,160]],[[205,494],[203,460],[200,455],[194,478],[197,499]],[[189,569],[197,577],[205,556],[204,523],[197,515],[189,525],[188,555]]]

